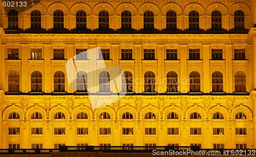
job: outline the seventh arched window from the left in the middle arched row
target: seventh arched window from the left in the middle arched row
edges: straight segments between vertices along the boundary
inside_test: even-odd
[[[148,71],[144,74],[144,88],[145,92],[156,91],[155,74],[151,71]]]

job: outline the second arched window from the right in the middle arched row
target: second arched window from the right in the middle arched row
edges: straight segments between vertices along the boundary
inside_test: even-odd
[[[223,75],[221,72],[214,72],[211,75],[212,92],[223,92]]]

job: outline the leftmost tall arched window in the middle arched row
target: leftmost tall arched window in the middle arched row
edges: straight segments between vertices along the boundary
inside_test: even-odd
[[[19,74],[17,71],[11,71],[8,74],[8,91],[19,92]]]

